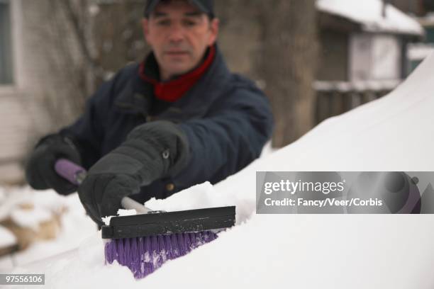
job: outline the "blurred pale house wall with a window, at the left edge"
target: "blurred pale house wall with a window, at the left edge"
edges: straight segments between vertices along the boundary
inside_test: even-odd
[[[70,77],[77,74],[79,61],[71,61],[79,60],[77,44],[51,4],[0,0],[1,184],[22,182],[35,139],[72,118],[68,106],[79,91]]]

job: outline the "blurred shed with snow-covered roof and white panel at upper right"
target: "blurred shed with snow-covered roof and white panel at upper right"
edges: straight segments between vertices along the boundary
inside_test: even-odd
[[[318,0],[317,121],[384,96],[408,75],[407,47],[422,26],[380,0]]]

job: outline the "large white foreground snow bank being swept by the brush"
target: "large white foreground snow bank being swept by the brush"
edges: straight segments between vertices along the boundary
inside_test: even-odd
[[[33,249],[64,252],[6,271],[45,273],[44,288],[434,288],[434,215],[255,214],[256,171],[434,171],[433,71],[431,55],[388,96],[326,120],[226,181],[151,200],[154,210],[236,205],[237,226],[143,280],[104,266],[104,245],[76,196],[63,239]]]

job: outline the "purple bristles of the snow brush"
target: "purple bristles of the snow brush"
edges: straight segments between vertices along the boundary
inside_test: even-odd
[[[106,243],[104,252],[106,263],[116,260],[140,279],[160,268],[165,261],[184,256],[216,238],[213,232],[196,232],[116,239]]]

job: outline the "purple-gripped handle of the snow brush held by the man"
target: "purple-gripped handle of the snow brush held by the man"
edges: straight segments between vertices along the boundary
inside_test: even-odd
[[[70,183],[79,186],[86,178],[86,169],[78,164],[74,164],[68,159],[57,159],[55,163],[55,171],[62,178],[67,179]],[[126,210],[135,210],[138,214],[147,214],[152,212],[149,208],[136,202],[132,198],[123,197],[121,205]]]

